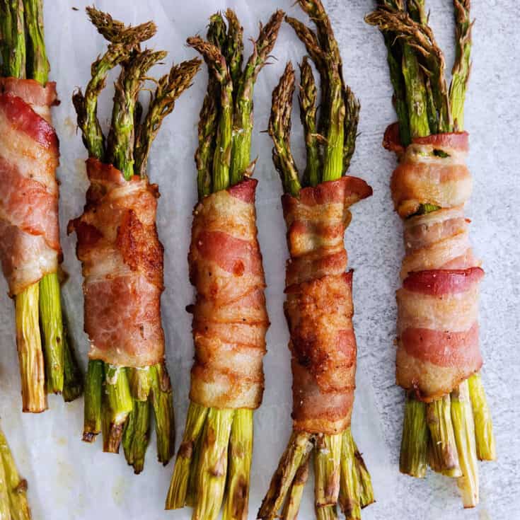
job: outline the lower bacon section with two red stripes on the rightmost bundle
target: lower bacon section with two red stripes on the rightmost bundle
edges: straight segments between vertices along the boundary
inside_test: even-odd
[[[397,381],[425,401],[449,393],[482,366],[480,267],[414,272],[397,291]]]

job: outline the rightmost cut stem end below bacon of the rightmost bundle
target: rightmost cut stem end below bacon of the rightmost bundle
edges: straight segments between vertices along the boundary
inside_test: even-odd
[[[468,384],[471,408],[473,408],[473,420],[475,420],[477,456],[480,461],[495,461],[497,451],[495,448],[493,423],[480,374],[477,373],[470,376]]]

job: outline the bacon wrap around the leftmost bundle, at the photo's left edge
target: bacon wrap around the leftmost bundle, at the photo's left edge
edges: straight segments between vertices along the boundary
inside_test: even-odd
[[[0,258],[11,296],[61,261],[55,102],[52,82],[0,79]]]

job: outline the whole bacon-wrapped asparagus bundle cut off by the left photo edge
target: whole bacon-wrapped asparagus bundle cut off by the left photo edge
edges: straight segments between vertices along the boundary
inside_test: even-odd
[[[82,376],[62,316],[59,287],[58,139],[50,107],[41,0],[0,1],[0,258],[16,308],[24,412],[47,393],[71,401]]]

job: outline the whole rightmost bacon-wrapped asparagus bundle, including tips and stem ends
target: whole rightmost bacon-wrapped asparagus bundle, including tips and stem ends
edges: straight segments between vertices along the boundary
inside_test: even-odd
[[[406,391],[400,470],[427,464],[458,479],[464,507],[478,504],[478,465],[495,459],[480,368],[478,285],[463,206],[470,197],[464,97],[470,71],[470,1],[453,0],[456,60],[451,85],[427,24],[424,0],[384,0],[366,17],[388,47],[398,123],[383,146],[399,166],[391,180],[405,225],[403,287],[397,291],[397,382]]]

